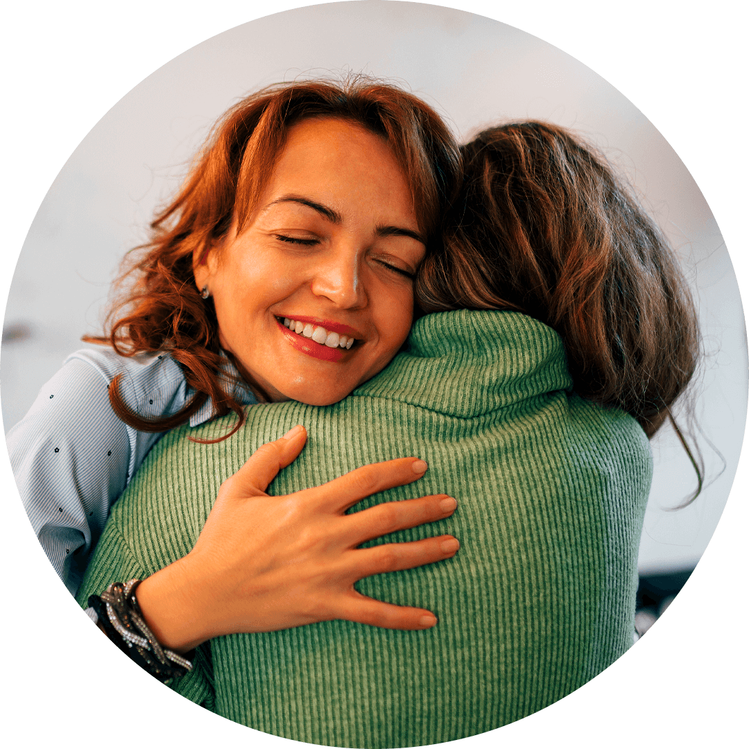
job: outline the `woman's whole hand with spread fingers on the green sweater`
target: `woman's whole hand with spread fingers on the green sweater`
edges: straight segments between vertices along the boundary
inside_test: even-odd
[[[329,619],[390,629],[425,629],[437,623],[424,609],[367,598],[354,583],[452,557],[457,539],[439,536],[357,547],[386,533],[447,518],[455,500],[438,494],[345,515],[371,494],[421,478],[426,464],[416,458],[357,468],[285,497],[265,494],[305,443],[305,429],[296,427],[258,449],[222,484],[195,548],[140,584],[139,605],[164,646],[187,652],[222,634]]]

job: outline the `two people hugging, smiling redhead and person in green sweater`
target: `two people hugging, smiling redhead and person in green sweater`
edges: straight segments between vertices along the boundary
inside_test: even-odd
[[[537,121],[458,146],[363,76],[274,85],[151,228],[7,440],[113,643],[237,724],[361,748],[518,721],[632,646],[649,438],[699,338],[601,154]]]

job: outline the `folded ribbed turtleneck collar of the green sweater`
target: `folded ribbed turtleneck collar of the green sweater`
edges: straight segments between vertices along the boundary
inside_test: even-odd
[[[405,351],[353,395],[470,418],[571,388],[551,327],[520,312],[461,309],[419,318]]]

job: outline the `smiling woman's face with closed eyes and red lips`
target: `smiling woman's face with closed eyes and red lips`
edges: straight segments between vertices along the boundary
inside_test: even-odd
[[[235,219],[207,254],[195,250],[195,283],[213,297],[222,349],[265,400],[329,405],[403,344],[424,255],[386,139],[318,117],[288,129],[241,233]]]

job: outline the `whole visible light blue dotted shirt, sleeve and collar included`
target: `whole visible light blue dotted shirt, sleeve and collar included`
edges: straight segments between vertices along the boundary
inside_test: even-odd
[[[228,359],[225,372],[236,374]],[[109,383],[120,373],[127,407],[146,418],[171,416],[194,395],[169,354],[121,357],[111,348],[83,349],[65,360],[6,436],[28,520],[72,595],[112,504],[166,434],[138,431],[115,415]],[[252,392],[238,386],[234,397],[243,405],[258,402]],[[208,398],[189,425],[201,425],[213,415]]]

